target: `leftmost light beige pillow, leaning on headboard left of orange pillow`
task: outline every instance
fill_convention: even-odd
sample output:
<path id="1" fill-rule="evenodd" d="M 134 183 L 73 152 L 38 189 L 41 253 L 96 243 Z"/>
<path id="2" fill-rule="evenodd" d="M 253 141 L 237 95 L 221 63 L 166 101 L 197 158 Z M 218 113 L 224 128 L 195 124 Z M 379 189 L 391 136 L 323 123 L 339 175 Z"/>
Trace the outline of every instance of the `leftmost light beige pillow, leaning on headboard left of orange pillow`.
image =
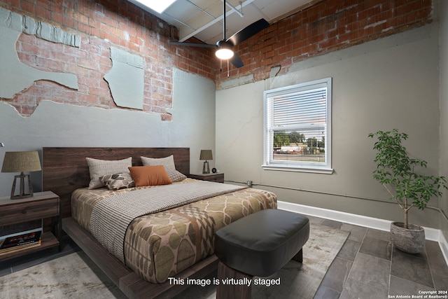
<path id="1" fill-rule="evenodd" d="M 94 158 L 85 158 L 85 160 L 87 160 L 90 172 L 89 189 L 104 187 L 104 183 L 99 180 L 100 176 L 128 172 L 127 167 L 132 166 L 132 157 L 123 160 L 99 160 Z"/>

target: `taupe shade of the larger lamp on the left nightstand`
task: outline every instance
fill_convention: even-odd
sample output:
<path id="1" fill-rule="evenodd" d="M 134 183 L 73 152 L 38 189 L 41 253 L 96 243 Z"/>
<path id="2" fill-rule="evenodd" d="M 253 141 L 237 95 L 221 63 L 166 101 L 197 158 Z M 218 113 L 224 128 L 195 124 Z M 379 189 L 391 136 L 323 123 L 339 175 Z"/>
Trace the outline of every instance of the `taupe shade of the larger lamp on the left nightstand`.
<path id="1" fill-rule="evenodd" d="M 7 151 L 1 172 L 38 172 L 42 170 L 36 151 Z"/>

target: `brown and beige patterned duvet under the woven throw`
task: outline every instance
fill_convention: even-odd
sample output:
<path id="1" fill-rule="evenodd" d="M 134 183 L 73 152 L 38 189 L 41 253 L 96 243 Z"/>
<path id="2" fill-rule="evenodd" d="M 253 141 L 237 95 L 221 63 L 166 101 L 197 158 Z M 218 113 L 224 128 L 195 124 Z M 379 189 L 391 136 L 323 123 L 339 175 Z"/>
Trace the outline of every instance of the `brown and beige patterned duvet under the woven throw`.
<path id="1" fill-rule="evenodd" d="M 185 179 L 179 183 L 190 183 Z M 81 188 L 72 194 L 72 216 L 90 230 L 94 204 L 123 190 Z M 261 209 L 276 209 L 276 195 L 245 188 L 174 209 L 135 218 L 125 235 L 125 263 L 141 277 L 162 283 L 214 253 L 214 233 L 237 219 Z"/>

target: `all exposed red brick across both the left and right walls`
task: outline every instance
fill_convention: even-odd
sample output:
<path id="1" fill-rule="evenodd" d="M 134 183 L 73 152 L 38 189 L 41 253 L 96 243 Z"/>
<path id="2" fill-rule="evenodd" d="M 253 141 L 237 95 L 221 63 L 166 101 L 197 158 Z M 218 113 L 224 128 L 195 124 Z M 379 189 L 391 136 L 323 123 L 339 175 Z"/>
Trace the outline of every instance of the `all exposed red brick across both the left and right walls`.
<path id="1" fill-rule="evenodd" d="M 144 57 L 144 111 L 172 120 L 173 67 L 216 81 L 228 80 L 226 64 L 209 48 L 170 46 L 175 27 L 125 0 L 8 0 L 0 6 L 36 20 L 58 25 L 81 37 L 80 48 L 51 43 L 21 34 L 19 59 L 44 71 L 76 74 L 79 90 L 50 81 L 37 81 L 13 99 L 0 99 L 29 116 L 39 102 L 54 102 L 104 109 L 116 108 L 104 75 L 111 69 L 110 47 Z M 315 6 L 279 20 L 235 47 L 244 67 L 230 66 L 229 78 L 248 74 L 268 78 L 272 67 L 285 74 L 307 57 L 378 39 L 432 21 L 431 0 L 323 0 Z"/>

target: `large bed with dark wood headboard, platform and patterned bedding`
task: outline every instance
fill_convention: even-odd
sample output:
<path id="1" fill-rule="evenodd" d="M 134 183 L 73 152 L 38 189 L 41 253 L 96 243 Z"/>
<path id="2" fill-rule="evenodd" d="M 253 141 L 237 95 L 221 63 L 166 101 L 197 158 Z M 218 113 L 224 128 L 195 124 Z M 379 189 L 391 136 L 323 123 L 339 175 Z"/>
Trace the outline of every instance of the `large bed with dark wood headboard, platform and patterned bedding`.
<path id="1" fill-rule="evenodd" d="M 218 264 L 213 252 L 216 230 L 260 209 L 276 208 L 276 197 L 268 191 L 241 186 L 235 186 L 234 190 L 228 184 L 184 179 L 185 176 L 179 181 L 173 179 L 173 183 L 156 187 L 130 186 L 119 190 L 109 190 L 107 187 L 88 188 L 92 183 L 89 169 L 89 166 L 92 169 L 92 165 L 87 163 L 86 158 L 111 161 L 129 159 L 132 167 L 136 167 L 134 170 L 141 170 L 143 167 L 140 166 L 144 165 L 144 158 L 141 157 L 151 157 L 153 164 L 158 164 L 158 159 L 169 156 L 174 160 L 176 172 L 188 176 L 189 148 L 43 148 L 43 190 L 52 190 L 60 197 L 62 229 L 129 298 L 171 298 L 183 291 L 188 286 L 173 284 L 168 278 L 200 278 L 215 270 Z M 171 179 L 171 173 L 169 175 Z M 170 194 L 173 190 L 178 190 L 176 192 L 182 197 L 184 190 L 194 189 L 189 192 L 197 193 L 199 191 L 196 190 L 202 188 L 217 188 L 218 191 L 212 192 L 211 197 L 197 197 L 199 200 L 195 197 L 188 204 L 176 203 L 174 207 L 160 211 L 152 210 L 151 207 L 148 211 L 155 211 L 154 213 L 146 214 L 144 211 L 144 215 L 136 218 L 132 214 L 125 215 L 127 207 L 118 209 L 115 208 L 115 201 L 113 204 L 108 202 L 127 202 L 130 196 L 131 200 L 140 202 L 139 196 L 151 194 L 150 197 L 157 197 L 158 193 L 164 193 L 165 190 Z M 101 206 L 114 208 L 112 211 L 98 212 Z M 138 210 L 140 213 L 141 208 Z M 120 217 L 111 216 L 113 213 L 118 213 Z M 121 218 L 122 213 L 133 219 L 123 229 L 125 246 L 118 246 L 123 251 L 123 258 L 120 250 L 118 253 L 113 250 L 113 242 L 117 242 L 106 236 L 120 235 L 122 232 L 118 230 L 113 234 L 104 234 L 102 232 L 109 231 L 110 228 L 105 230 L 101 226 L 104 225 L 102 223 L 107 224 L 109 218 Z M 103 217 L 106 219 L 101 220 Z M 116 226 L 120 225 L 113 225 Z M 179 233 L 180 231 L 183 233 Z M 170 237 L 164 239 L 162 235 Z M 143 239 L 152 243 L 143 244 Z M 168 250 L 168 244 L 175 246 Z"/>

